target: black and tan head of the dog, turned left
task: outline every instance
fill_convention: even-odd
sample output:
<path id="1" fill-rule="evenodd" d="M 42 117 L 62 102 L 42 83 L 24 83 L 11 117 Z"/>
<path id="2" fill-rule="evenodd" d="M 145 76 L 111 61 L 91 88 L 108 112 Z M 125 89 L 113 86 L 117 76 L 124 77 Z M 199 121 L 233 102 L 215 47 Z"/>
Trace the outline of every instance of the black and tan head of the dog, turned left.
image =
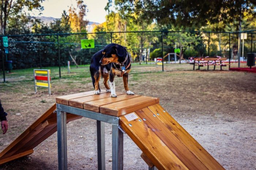
<path id="1" fill-rule="evenodd" d="M 126 53 L 126 47 L 115 43 L 109 44 L 104 47 L 102 51 L 103 57 L 99 63 L 102 65 L 106 65 L 111 62 L 121 63 L 125 60 Z"/>

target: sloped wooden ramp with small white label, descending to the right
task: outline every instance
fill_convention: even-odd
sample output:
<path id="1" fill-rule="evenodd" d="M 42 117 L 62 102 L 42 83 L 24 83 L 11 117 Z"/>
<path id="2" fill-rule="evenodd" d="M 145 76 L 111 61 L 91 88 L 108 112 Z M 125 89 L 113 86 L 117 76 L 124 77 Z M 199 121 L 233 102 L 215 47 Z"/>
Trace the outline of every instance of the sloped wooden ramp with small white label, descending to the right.
<path id="1" fill-rule="evenodd" d="M 120 126 L 159 170 L 224 169 L 159 104 L 119 117 Z M 151 165 L 152 165 L 151 164 Z"/>

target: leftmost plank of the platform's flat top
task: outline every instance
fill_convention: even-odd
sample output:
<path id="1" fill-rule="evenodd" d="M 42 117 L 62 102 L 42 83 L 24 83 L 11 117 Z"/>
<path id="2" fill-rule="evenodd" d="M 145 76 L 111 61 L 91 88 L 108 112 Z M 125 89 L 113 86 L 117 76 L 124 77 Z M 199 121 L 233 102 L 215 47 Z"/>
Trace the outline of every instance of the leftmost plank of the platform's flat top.
<path id="1" fill-rule="evenodd" d="M 106 92 L 101 92 L 101 94 L 102 93 L 106 93 Z M 89 92 L 83 92 L 83 93 L 69 94 L 69 95 L 66 95 L 66 96 L 56 97 L 56 103 L 63 104 L 63 105 L 69 105 L 69 100 L 72 100 L 74 98 L 92 96 L 92 95 L 94 95 L 94 90 L 89 91 Z"/>

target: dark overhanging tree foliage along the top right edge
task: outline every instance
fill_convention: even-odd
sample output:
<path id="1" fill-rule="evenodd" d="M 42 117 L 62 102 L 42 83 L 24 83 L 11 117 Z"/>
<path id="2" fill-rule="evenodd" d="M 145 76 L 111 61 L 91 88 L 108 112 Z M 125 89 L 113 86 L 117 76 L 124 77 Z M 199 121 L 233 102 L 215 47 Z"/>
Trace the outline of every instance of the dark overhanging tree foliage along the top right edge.
<path id="1" fill-rule="evenodd" d="M 196 28 L 208 23 L 241 21 L 245 13 L 256 16 L 253 0 L 115 0 L 115 5 L 130 13 L 142 13 L 144 20 L 154 19 L 161 25 Z"/>

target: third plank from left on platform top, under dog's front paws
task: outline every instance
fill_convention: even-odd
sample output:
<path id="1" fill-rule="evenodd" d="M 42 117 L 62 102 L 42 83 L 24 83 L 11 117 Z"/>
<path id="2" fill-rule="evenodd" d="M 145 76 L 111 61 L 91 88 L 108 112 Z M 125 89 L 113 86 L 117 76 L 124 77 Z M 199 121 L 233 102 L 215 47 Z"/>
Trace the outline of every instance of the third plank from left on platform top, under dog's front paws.
<path id="1" fill-rule="evenodd" d="M 85 102 L 83 104 L 83 108 L 86 109 L 86 110 L 89 110 L 89 111 L 99 113 L 99 108 L 103 105 L 115 103 L 115 102 L 118 102 L 118 101 L 128 100 L 130 98 L 135 98 L 135 97 L 139 97 L 139 96 L 140 95 L 137 95 L 137 94 L 135 94 L 135 95 L 122 94 L 122 95 L 119 95 L 117 97 L 103 98 L 103 99 L 99 99 L 99 100 Z"/>

